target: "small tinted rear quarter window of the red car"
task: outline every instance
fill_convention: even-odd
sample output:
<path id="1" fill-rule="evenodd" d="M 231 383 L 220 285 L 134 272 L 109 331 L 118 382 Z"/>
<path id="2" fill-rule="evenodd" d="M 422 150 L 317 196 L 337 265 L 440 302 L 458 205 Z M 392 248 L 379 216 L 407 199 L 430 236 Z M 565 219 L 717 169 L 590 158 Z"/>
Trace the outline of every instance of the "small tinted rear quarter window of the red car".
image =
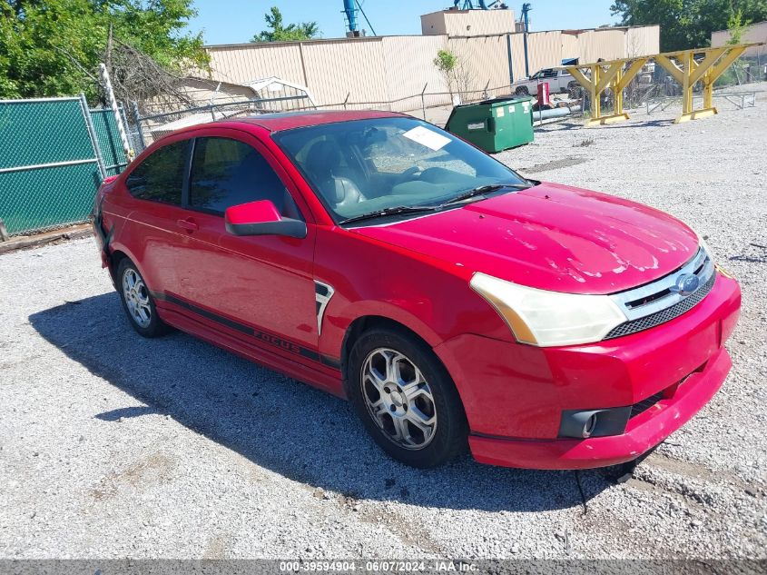
<path id="1" fill-rule="evenodd" d="M 128 176 L 128 191 L 140 200 L 181 205 L 183 168 L 189 141 L 162 146 L 139 164 Z"/>

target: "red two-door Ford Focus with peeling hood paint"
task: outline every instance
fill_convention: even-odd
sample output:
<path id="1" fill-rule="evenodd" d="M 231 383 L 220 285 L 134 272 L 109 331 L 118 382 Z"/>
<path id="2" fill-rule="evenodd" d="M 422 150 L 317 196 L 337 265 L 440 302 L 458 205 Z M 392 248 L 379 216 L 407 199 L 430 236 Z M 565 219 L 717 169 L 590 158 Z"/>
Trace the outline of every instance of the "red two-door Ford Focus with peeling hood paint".
<path id="1" fill-rule="evenodd" d="M 131 325 L 353 403 L 399 461 L 631 461 L 722 385 L 738 283 L 666 213 L 520 176 L 400 114 L 184 129 L 103 183 Z"/>

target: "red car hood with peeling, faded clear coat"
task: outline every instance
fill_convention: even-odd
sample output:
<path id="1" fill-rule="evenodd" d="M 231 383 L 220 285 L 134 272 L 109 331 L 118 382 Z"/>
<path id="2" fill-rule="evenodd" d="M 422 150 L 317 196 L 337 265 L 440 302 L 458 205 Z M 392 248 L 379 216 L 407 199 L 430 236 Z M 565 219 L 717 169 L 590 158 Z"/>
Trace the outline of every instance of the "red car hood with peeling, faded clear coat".
<path id="1" fill-rule="evenodd" d="M 652 282 L 698 249 L 693 230 L 667 213 L 556 183 L 350 231 L 468 273 L 569 293 L 620 292 Z"/>

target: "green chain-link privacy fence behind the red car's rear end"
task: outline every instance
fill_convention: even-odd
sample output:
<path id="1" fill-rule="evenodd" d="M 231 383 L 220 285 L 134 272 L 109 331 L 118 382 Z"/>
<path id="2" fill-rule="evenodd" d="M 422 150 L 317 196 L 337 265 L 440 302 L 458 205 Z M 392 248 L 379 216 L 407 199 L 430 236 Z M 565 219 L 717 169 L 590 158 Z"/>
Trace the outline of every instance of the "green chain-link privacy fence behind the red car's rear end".
<path id="1" fill-rule="evenodd" d="M 0 220 L 9 234 L 84 222 L 127 164 L 112 110 L 84 97 L 0 100 Z"/>

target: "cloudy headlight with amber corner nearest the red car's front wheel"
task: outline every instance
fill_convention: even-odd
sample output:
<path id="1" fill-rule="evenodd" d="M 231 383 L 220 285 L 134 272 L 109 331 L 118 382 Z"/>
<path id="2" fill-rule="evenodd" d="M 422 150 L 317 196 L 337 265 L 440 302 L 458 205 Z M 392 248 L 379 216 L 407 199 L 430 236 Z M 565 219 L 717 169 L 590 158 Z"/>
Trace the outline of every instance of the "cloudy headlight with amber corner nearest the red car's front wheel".
<path id="1" fill-rule="evenodd" d="M 599 342 L 626 317 L 606 295 L 546 292 L 475 273 L 472 289 L 506 321 L 518 342 L 547 347 Z"/>

